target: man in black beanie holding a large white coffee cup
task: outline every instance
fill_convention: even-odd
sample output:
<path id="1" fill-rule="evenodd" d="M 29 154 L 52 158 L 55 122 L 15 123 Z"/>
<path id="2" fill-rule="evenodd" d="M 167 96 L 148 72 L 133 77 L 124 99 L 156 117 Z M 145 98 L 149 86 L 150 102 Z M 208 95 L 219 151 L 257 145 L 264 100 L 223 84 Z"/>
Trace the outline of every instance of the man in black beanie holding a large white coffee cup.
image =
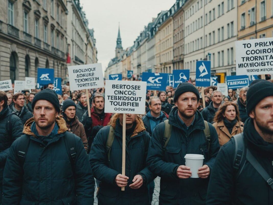
<path id="1" fill-rule="evenodd" d="M 215 128 L 197 110 L 199 98 L 191 83 L 179 84 L 169 120 L 161 122 L 152 134 L 147 164 L 161 177 L 159 205 L 206 202 L 208 176 L 220 145 Z M 192 167 L 185 165 L 184 157 L 190 158 L 187 161 Z M 196 168 L 200 160 L 203 166 Z"/>

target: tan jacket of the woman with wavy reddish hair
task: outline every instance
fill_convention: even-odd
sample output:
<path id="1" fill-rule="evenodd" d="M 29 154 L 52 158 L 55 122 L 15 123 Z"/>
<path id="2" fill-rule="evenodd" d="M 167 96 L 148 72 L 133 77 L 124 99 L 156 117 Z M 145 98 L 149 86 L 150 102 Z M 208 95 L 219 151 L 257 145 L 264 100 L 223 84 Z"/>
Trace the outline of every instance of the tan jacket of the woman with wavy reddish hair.
<path id="1" fill-rule="evenodd" d="M 213 127 L 215 127 L 216 132 L 218 134 L 220 146 L 227 143 L 231 139 L 232 136 L 243 132 L 243 129 L 244 129 L 244 127 L 243 127 L 244 123 L 241 121 L 237 122 L 234 125 L 231 134 L 229 133 L 229 130 L 225 126 L 224 121 L 215 122 L 212 125 L 213 125 Z"/>

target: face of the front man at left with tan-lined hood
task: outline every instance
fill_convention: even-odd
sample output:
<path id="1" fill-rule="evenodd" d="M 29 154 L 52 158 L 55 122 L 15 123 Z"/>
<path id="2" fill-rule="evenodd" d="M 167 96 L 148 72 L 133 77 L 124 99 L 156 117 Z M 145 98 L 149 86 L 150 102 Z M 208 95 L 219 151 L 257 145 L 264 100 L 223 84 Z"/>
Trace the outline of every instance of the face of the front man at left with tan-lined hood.
<path id="1" fill-rule="evenodd" d="M 58 117 L 58 112 L 47 100 L 38 100 L 33 109 L 33 116 L 36 125 L 41 129 L 48 129 Z"/>

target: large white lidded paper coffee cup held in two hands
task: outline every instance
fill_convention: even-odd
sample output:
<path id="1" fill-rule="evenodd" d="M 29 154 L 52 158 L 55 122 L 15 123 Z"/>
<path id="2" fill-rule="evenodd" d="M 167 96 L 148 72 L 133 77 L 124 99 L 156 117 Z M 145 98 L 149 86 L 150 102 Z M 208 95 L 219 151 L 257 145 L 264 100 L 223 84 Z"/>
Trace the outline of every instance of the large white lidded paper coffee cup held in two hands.
<path id="1" fill-rule="evenodd" d="M 198 177 L 198 169 L 203 166 L 204 155 L 202 154 L 186 154 L 185 155 L 185 165 L 191 168 L 191 178 Z"/>

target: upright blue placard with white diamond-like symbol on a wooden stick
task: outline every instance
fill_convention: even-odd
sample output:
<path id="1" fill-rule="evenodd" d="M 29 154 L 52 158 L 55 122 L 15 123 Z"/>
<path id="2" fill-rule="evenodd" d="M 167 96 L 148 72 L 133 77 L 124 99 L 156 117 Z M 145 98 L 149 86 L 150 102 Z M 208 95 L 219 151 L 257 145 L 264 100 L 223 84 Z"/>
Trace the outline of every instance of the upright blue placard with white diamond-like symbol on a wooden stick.
<path id="1" fill-rule="evenodd" d="M 210 86 L 210 61 L 196 62 L 195 85 L 201 87 Z"/>

